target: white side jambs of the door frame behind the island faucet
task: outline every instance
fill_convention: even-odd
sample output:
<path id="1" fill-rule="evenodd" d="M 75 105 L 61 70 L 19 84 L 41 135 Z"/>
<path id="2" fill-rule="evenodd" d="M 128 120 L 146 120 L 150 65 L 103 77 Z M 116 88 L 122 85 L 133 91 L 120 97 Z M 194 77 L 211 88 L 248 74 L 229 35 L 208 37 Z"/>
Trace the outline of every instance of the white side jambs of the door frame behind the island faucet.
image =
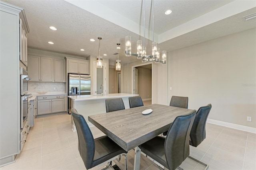
<path id="1" fill-rule="evenodd" d="M 107 94 L 107 64 L 102 63 L 103 66 L 103 86 L 104 94 Z M 97 94 L 97 62 L 93 62 L 93 94 Z"/>

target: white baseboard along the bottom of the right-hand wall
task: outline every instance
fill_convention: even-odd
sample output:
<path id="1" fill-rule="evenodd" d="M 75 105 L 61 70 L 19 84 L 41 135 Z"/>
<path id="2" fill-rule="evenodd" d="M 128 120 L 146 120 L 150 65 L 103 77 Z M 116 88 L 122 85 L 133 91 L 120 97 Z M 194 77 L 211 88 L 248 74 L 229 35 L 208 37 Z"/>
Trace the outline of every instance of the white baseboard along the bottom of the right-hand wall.
<path id="1" fill-rule="evenodd" d="M 207 123 L 216 124 L 216 125 L 220 125 L 220 126 L 225 126 L 225 127 L 228 127 L 228 128 L 242 130 L 242 131 L 246 131 L 246 132 L 256 134 L 256 128 L 252 128 L 252 127 L 249 127 L 249 126 L 243 126 L 243 125 L 239 125 L 239 124 L 222 122 L 222 121 L 213 120 L 213 119 L 207 119 Z"/>

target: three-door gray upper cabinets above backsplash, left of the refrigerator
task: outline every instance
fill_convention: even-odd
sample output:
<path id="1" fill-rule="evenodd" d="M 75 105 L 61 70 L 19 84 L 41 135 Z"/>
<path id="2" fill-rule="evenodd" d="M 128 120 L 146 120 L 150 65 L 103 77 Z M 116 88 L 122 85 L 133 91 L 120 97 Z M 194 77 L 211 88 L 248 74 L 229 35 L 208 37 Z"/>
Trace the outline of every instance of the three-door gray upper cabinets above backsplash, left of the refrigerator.
<path id="1" fill-rule="evenodd" d="M 65 82 L 64 58 L 28 54 L 30 82 Z"/>

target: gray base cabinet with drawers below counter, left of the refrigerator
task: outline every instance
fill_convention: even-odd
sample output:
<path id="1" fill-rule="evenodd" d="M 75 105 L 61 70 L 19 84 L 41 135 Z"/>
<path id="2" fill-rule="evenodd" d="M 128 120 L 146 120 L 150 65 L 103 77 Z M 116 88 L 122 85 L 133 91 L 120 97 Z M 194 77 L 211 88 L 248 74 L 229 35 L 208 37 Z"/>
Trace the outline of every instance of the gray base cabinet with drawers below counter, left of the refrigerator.
<path id="1" fill-rule="evenodd" d="M 66 111 L 65 95 L 38 96 L 37 115 Z"/>

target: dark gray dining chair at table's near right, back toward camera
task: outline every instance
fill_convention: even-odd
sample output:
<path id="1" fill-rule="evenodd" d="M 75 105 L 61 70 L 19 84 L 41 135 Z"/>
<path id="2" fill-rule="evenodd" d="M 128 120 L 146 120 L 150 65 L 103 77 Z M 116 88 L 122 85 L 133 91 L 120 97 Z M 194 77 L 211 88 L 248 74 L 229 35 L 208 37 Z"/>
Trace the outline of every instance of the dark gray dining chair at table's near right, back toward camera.
<path id="1" fill-rule="evenodd" d="M 156 136 L 139 146 L 141 151 L 169 170 L 181 169 L 180 164 L 189 155 L 189 134 L 195 116 L 196 110 L 176 117 L 166 138 Z"/>

